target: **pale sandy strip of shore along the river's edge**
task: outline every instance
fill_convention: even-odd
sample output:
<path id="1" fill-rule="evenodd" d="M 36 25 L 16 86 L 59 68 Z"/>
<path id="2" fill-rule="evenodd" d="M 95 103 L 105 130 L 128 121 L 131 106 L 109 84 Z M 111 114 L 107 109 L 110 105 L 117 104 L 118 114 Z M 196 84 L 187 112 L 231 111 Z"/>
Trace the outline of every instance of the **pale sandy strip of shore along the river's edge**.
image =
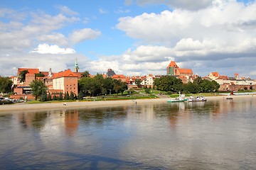
<path id="1" fill-rule="evenodd" d="M 228 96 L 206 96 L 208 101 L 221 100 Z M 248 98 L 253 95 L 232 96 L 235 98 Z M 11 105 L 0 106 L 0 114 L 9 111 L 43 111 L 56 109 L 72 109 L 72 108 L 99 108 L 109 106 L 124 106 L 124 105 L 140 105 L 146 103 L 167 103 L 170 98 L 151 98 L 151 99 L 135 99 L 135 100 L 120 100 L 120 101 L 73 101 L 59 103 L 16 103 Z"/>

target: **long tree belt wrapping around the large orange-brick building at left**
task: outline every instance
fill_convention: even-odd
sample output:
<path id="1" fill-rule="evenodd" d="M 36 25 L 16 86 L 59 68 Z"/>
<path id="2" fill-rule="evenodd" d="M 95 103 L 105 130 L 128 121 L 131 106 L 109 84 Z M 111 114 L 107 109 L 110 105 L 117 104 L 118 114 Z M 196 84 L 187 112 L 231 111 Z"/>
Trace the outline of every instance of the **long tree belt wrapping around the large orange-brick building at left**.
<path id="1" fill-rule="evenodd" d="M 47 91 L 47 86 L 43 81 L 35 79 L 31 82 L 31 91 L 35 99 L 40 101 L 62 101 L 64 100 L 82 100 L 84 96 L 100 96 L 108 94 L 123 94 L 127 90 L 127 83 L 121 80 L 112 79 L 110 77 L 104 78 L 102 74 L 97 74 L 95 77 L 90 77 L 89 74 L 83 74 L 82 78 L 78 80 L 78 96 L 73 92 L 70 94 L 58 94 L 53 97 Z"/>

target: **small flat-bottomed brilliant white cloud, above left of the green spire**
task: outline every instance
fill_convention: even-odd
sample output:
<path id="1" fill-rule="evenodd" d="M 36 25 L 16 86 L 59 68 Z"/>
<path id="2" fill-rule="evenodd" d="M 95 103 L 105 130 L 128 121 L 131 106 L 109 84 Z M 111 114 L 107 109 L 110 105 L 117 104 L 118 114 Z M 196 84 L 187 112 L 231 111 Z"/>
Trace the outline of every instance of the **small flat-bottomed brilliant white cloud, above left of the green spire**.
<path id="1" fill-rule="evenodd" d="M 40 54 L 73 54 L 75 53 L 75 50 L 72 48 L 61 48 L 58 45 L 48 45 L 48 44 L 41 44 L 38 45 L 38 47 L 31 51 L 31 52 L 37 52 Z"/>

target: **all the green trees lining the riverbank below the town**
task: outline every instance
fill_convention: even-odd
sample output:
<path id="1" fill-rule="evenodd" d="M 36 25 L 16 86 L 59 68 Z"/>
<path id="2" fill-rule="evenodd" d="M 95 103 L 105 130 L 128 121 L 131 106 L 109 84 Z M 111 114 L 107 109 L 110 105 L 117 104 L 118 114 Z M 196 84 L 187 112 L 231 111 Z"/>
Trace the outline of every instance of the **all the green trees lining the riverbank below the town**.
<path id="1" fill-rule="evenodd" d="M 25 79 L 26 70 L 19 75 L 20 81 Z M 135 84 L 140 88 L 141 80 L 136 79 Z M 0 77 L 0 91 L 3 93 L 11 92 L 12 81 L 9 77 Z M 122 82 L 120 79 L 112 79 L 110 77 L 104 78 L 102 74 L 97 74 L 95 77 L 90 77 L 89 72 L 82 73 L 81 79 L 78 80 L 78 96 L 73 93 L 56 94 L 51 96 L 47 91 L 46 85 L 41 80 L 33 80 L 30 84 L 33 91 L 33 96 L 36 100 L 40 98 L 41 101 L 51 100 L 82 100 L 84 96 L 101 96 L 109 94 L 123 94 L 127 90 L 127 82 Z M 150 87 L 151 88 L 151 87 Z M 181 79 L 172 76 L 164 76 L 154 79 L 153 89 L 160 91 L 167 91 L 171 93 L 178 93 L 181 91 L 185 94 L 196 94 L 201 92 L 215 92 L 218 91 L 220 85 L 216 81 L 209 81 L 197 77 L 193 83 L 183 84 Z"/>

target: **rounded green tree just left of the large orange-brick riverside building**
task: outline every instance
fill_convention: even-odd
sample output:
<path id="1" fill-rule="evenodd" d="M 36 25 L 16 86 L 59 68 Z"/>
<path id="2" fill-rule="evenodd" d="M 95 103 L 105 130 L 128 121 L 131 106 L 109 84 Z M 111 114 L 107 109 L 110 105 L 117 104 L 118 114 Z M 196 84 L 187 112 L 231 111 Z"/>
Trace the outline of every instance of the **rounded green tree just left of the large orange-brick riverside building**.
<path id="1" fill-rule="evenodd" d="M 33 80 L 31 82 L 31 84 L 29 84 L 29 86 L 31 86 L 31 89 L 33 91 L 33 96 L 35 96 L 35 99 L 37 100 L 38 96 L 41 96 L 43 93 L 46 94 L 46 85 L 43 84 L 43 81 L 41 80 Z"/>

